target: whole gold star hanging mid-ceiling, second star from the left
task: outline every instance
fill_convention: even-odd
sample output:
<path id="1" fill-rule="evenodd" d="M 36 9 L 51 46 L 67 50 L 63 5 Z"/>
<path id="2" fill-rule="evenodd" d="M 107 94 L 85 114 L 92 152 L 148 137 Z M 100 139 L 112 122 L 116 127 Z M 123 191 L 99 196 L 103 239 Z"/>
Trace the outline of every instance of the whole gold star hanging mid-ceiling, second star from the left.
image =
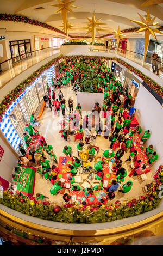
<path id="1" fill-rule="evenodd" d="M 96 31 L 99 34 L 99 31 L 104 30 L 103 28 L 100 27 L 100 25 L 103 25 L 103 24 L 106 24 L 106 23 L 99 22 L 101 19 L 97 19 L 96 20 L 95 11 L 93 13 L 92 19 L 90 19 L 90 18 L 86 18 L 86 19 L 89 20 L 89 21 L 84 22 L 84 23 L 88 23 L 87 24 L 87 28 L 86 28 L 86 29 L 88 29 L 88 31 L 87 31 L 86 34 L 89 34 L 91 32 L 91 35 L 92 35 L 92 45 L 94 45 Z"/>

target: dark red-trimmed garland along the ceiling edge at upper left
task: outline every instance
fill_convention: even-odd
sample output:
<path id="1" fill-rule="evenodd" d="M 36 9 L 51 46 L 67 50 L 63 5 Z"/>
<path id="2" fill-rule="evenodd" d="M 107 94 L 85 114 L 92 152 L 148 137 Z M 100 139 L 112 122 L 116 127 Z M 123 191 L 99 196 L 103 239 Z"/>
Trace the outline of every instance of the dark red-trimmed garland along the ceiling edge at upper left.
<path id="1" fill-rule="evenodd" d="M 47 23 L 44 23 L 44 22 L 29 19 L 28 17 L 22 16 L 22 15 L 2 14 L 1 13 L 0 14 L 0 21 L 17 21 L 17 22 L 22 22 L 22 23 L 28 23 L 30 25 L 36 25 L 36 26 L 39 26 L 39 27 L 47 28 L 47 29 L 50 29 L 52 31 L 61 33 L 62 35 L 65 35 L 65 33 L 63 31 L 60 31 L 60 29 L 58 29 L 58 28 L 55 28 L 55 27 L 53 27 L 51 25 L 48 25 Z M 70 36 L 70 35 L 68 35 L 68 36 Z"/>

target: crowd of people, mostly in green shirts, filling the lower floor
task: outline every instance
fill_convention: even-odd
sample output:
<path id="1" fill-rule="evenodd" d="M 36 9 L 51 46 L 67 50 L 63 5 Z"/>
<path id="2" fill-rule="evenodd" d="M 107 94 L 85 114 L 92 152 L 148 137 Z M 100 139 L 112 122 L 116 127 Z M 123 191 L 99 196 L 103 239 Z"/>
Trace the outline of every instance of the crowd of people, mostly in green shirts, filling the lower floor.
<path id="1" fill-rule="evenodd" d="M 61 92 L 61 87 L 67 88 L 71 86 L 74 93 L 83 90 L 83 78 L 89 77 L 89 74 L 86 74 L 83 70 L 83 63 L 89 67 L 89 70 L 96 70 L 96 76 L 99 81 L 96 87 L 99 93 L 104 93 L 104 102 L 102 109 L 99 107 L 99 103 L 95 102 L 95 107 L 91 111 L 92 113 L 83 117 L 80 103 L 77 104 L 74 110 L 73 99 L 71 99 L 71 97 L 68 99 L 67 106 L 69 109 L 66 109 L 67 112 L 74 114 L 75 117 L 77 114 L 79 115 L 78 122 L 76 121 L 77 119 L 75 119 L 73 123 L 74 126 L 78 126 L 80 132 L 85 130 L 85 144 L 84 142 L 79 142 L 77 144 L 76 153 L 73 152 L 72 147 L 68 144 L 64 146 L 62 151 L 63 155 L 67 157 L 70 156 L 73 159 L 72 164 L 68 164 L 68 168 L 70 168 L 68 172 L 72 174 L 72 176 L 68 178 L 71 183 L 71 188 L 69 192 L 64 193 L 63 195 L 63 200 L 68 207 L 74 205 L 74 203 L 78 203 L 72 202 L 73 191 L 84 191 L 85 200 L 80 202 L 83 207 L 92 204 L 89 198 L 92 197 L 95 191 L 103 191 L 106 194 L 105 197 L 98 201 L 99 205 L 106 204 L 109 200 L 114 199 L 116 197 L 115 191 L 128 193 L 133 186 L 133 182 L 129 180 L 124 183 L 124 178 L 127 176 L 127 170 L 123 167 L 124 163 L 134 162 L 134 176 L 142 174 L 147 167 L 143 161 L 136 160 L 137 151 L 131 151 L 134 134 L 140 135 L 142 132 L 141 126 L 139 125 L 133 129 L 130 127 L 135 113 L 128 116 L 127 119 L 124 119 L 123 117 L 124 111 L 129 113 L 130 109 L 133 107 L 131 94 L 128 93 L 127 88 L 123 88 L 120 81 L 117 81 L 108 66 L 106 66 L 106 63 L 102 62 L 101 59 L 93 59 L 91 57 L 81 58 L 78 61 L 73 58 L 68 59 L 67 64 L 62 65 L 59 77 L 57 79 L 52 78 L 52 86 L 48 86 L 47 84 L 47 95 L 43 97 L 46 102 L 46 107 L 50 108 L 54 115 L 59 115 L 61 110 L 62 117 L 63 119 L 65 118 L 66 100 Z M 58 96 L 56 95 L 57 89 L 59 89 Z M 102 117 L 100 116 L 101 111 L 103 111 Z M 97 122 L 95 114 L 98 115 Z M 102 118 L 105 120 L 104 127 L 101 125 Z M 22 172 L 22 166 L 34 166 L 37 168 L 37 172 L 42 178 L 44 176 L 46 180 L 48 179 L 51 181 L 53 185 L 53 194 L 57 194 L 65 185 L 58 180 L 58 156 L 54 154 L 52 145 L 48 145 L 43 137 L 36 148 L 30 144 L 32 136 L 39 135 L 39 131 L 32 126 L 32 123 L 35 120 L 34 114 L 32 114 L 32 117 L 30 118 L 31 123 L 27 124 L 24 129 L 24 147 L 21 143 L 19 144 L 21 156 L 18 159 L 15 174 L 12 175 L 12 177 L 13 180 L 17 182 L 18 177 Z M 95 130 L 96 134 L 95 132 L 92 132 L 92 129 Z M 92 162 L 94 159 L 93 156 L 95 156 L 95 147 L 90 144 L 90 138 L 92 136 L 96 138 L 99 132 L 102 131 L 104 132 L 104 139 L 108 140 L 108 149 L 104 150 L 101 160 L 93 164 L 92 168 L 93 173 L 95 173 L 95 179 L 99 181 L 99 185 L 92 188 L 84 188 L 83 190 L 79 185 L 73 185 L 74 176 L 77 174 L 78 168 L 82 167 L 83 164 L 82 159 L 80 158 L 80 153 L 84 150 L 88 150 L 88 159 Z M 66 129 L 63 129 L 62 134 L 67 141 Z M 151 131 L 149 130 L 146 130 L 141 136 L 142 150 L 150 136 Z M 116 153 L 114 152 L 115 149 L 118 149 Z M 153 145 L 146 147 L 145 152 L 148 157 L 149 165 L 158 159 L 158 154 L 154 151 Z M 124 153 L 129 153 L 129 157 L 125 161 L 122 161 L 121 158 Z M 73 156 L 74 154 L 77 154 L 78 157 Z M 116 178 L 111 180 L 112 183 L 109 188 L 103 188 L 104 170 L 112 157 L 115 158 L 112 173 L 115 174 Z M 51 160 L 53 161 L 52 167 L 50 166 Z M 43 194 L 40 194 L 40 196 L 37 195 L 37 199 L 39 200 L 43 200 L 44 198 L 45 196 L 43 196 Z"/>

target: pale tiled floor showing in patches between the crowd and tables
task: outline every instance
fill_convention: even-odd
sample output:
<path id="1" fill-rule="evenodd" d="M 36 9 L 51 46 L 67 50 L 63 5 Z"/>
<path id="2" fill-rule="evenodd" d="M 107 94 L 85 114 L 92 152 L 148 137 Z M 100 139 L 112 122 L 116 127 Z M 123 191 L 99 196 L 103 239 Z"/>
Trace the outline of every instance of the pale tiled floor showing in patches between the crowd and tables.
<path id="1" fill-rule="evenodd" d="M 64 99 L 68 101 L 68 98 L 71 97 L 74 101 L 74 108 L 77 106 L 77 96 L 75 93 L 72 92 L 72 87 L 68 87 L 67 89 L 63 88 L 61 89 L 62 93 L 64 94 Z M 56 96 L 58 96 L 59 90 L 57 90 Z M 59 156 L 65 156 L 62 153 L 62 150 L 65 145 L 70 145 L 73 150 L 72 156 L 78 156 L 77 155 L 77 144 L 79 141 L 76 142 L 66 142 L 64 138 L 61 138 L 61 134 L 59 133 L 59 120 L 61 118 L 56 118 L 52 117 L 52 112 L 50 109 L 45 109 L 43 112 L 42 118 L 40 120 L 40 133 L 45 137 L 47 144 L 51 144 L 54 147 L 54 153 L 57 155 L 57 159 L 59 159 Z M 95 142 L 95 145 L 99 146 L 99 155 L 103 154 L 103 151 L 106 149 L 109 149 L 110 142 L 108 139 L 103 138 L 102 136 L 98 136 Z M 115 150 L 115 153 L 118 149 Z M 129 157 L 129 152 L 125 153 L 124 156 L 122 157 L 122 161 L 125 161 Z M 129 163 L 129 162 L 128 162 Z M 91 162 L 91 166 L 95 164 L 95 160 Z M 128 170 L 128 166 L 126 163 L 123 163 L 122 166 L 126 168 L 128 174 L 130 171 Z M 85 174 L 85 177 L 88 176 L 88 174 Z M 151 182 L 151 174 L 147 173 L 147 179 L 143 181 L 141 184 L 137 180 L 137 178 L 129 178 L 127 175 L 126 178 L 124 179 L 124 183 L 127 181 L 133 181 L 133 187 L 131 188 L 130 192 L 127 194 L 122 194 L 121 192 L 115 192 L 116 197 L 114 200 L 111 201 L 111 203 L 114 203 L 116 200 L 128 200 L 130 198 L 139 198 L 143 194 L 142 187 L 145 184 L 149 184 Z M 122 185 L 122 184 L 121 184 Z M 36 183 L 35 183 L 35 191 L 34 191 L 34 196 L 36 193 L 42 193 L 45 196 L 47 196 L 49 199 L 49 202 L 54 202 L 56 204 L 62 204 L 65 203 L 64 200 L 62 199 L 62 195 L 58 194 L 57 196 L 53 196 L 50 194 L 49 190 L 51 189 L 52 184 L 49 180 L 45 180 L 45 178 L 41 179 L 40 175 L 36 173 Z M 66 190 L 65 192 L 68 192 Z M 108 204 L 108 203 L 107 203 Z"/>

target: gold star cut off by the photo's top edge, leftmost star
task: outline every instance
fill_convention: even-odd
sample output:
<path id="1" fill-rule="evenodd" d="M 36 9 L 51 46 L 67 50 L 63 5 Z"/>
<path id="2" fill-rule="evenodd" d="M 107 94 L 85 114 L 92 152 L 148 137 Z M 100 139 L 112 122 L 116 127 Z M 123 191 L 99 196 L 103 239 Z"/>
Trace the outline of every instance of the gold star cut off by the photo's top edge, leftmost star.
<path id="1" fill-rule="evenodd" d="M 75 2 L 75 0 L 74 1 L 57 0 L 57 1 L 58 1 L 58 4 L 49 4 L 49 5 L 54 6 L 54 7 L 59 7 L 58 10 L 55 11 L 55 13 L 59 13 L 59 11 L 61 12 L 63 23 L 64 23 L 64 33 L 65 33 L 66 32 L 66 22 L 67 22 L 67 13 L 68 13 L 68 11 L 70 11 L 70 13 L 73 14 L 73 11 L 71 10 L 70 7 L 73 7 L 73 8 L 79 8 L 79 7 L 72 5 L 72 3 Z"/>

